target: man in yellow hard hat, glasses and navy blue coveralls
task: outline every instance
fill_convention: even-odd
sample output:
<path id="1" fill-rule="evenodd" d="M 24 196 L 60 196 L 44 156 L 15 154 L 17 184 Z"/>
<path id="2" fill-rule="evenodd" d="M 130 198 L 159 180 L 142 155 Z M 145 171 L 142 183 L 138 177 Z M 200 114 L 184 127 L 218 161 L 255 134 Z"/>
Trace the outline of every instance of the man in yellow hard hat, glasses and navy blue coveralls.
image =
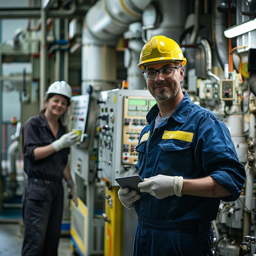
<path id="1" fill-rule="evenodd" d="M 139 68 L 157 104 L 146 116 L 136 151 L 141 192 L 119 189 L 138 215 L 133 256 L 211 256 L 220 200 L 237 200 L 245 182 L 229 130 L 182 92 L 184 58 L 171 38 L 153 36 Z"/>

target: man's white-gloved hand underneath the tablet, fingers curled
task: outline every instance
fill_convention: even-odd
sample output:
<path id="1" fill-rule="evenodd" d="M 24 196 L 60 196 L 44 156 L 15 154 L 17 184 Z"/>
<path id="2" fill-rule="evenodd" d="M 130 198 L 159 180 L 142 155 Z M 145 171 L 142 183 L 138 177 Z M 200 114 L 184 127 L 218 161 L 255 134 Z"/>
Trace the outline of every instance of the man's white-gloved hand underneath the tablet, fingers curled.
<path id="1" fill-rule="evenodd" d="M 134 209 L 135 202 L 139 200 L 140 195 L 136 190 L 130 191 L 129 188 L 119 189 L 117 192 L 119 200 L 127 209 Z"/>

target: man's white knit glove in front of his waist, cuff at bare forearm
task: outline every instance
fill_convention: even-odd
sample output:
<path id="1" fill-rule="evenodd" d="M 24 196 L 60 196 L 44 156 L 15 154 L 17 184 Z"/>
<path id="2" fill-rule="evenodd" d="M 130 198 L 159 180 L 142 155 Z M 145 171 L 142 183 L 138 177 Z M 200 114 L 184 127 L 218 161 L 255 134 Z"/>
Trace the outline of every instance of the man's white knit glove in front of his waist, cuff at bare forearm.
<path id="1" fill-rule="evenodd" d="M 162 174 L 145 178 L 144 182 L 139 182 L 138 184 L 141 192 L 150 193 L 157 199 L 163 199 L 169 195 L 182 196 L 182 186 L 182 176 L 166 176 Z"/>

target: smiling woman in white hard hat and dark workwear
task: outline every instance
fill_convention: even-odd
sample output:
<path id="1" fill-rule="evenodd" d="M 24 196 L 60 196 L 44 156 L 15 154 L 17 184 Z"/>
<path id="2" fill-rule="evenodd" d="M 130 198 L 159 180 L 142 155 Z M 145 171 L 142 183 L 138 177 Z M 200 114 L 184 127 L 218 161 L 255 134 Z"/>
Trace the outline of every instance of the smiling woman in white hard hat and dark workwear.
<path id="1" fill-rule="evenodd" d="M 61 122 L 70 105 L 72 89 L 65 81 L 49 86 L 45 108 L 22 128 L 22 150 L 27 180 L 22 197 L 25 226 L 22 256 L 56 256 L 63 213 L 63 177 L 69 198 L 78 205 L 76 187 L 70 175 L 70 146 L 79 138 L 66 133 Z"/>

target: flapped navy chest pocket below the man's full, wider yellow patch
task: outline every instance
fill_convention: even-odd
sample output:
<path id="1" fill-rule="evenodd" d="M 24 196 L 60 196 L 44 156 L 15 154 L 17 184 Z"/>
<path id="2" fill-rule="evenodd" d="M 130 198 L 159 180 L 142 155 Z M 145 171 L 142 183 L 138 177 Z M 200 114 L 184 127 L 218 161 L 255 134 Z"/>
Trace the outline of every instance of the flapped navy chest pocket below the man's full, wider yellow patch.
<path id="1" fill-rule="evenodd" d="M 191 146 L 186 141 L 166 139 L 158 144 L 157 173 L 164 175 L 185 175 L 189 164 Z"/>

